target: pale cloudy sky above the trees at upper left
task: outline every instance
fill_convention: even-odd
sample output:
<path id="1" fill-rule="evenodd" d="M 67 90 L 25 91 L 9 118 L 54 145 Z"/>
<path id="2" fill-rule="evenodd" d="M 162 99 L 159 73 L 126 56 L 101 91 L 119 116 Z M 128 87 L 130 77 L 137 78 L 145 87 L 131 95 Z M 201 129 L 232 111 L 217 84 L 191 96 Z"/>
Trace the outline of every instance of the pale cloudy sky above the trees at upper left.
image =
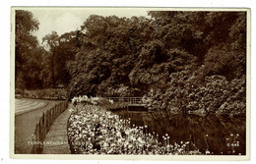
<path id="1" fill-rule="evenodd" d="M 24 9 L 25 10 L 25 9 Z M 90 15 L 117 16 L 131 18 L 133 16 L 149 17 L 144 9 L 120 9 L 120 8 L 29 8 L 33 18 L 39 22 L 39 29 L 32 34 L 37 36 L 39 43 L 41 38 L 55 30 L 59 35 L 72 30 L 79 29 Z"/>

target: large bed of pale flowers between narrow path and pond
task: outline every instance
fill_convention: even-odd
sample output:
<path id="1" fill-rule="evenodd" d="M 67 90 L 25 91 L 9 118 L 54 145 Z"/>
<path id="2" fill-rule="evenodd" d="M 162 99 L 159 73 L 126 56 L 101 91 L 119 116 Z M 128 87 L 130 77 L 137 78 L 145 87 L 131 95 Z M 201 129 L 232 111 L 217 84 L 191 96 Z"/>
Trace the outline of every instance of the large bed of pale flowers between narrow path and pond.
<path id="1" fill-rule="evenodd" d="M 201 154 L 189 150 L 189 142 L 163 143 L 158 135 L 147 133 L 147 127 L 131 127 L 130 120 L 96 105 L 78 104 L 68 120 L 68 140 L 75 154 Z"/>

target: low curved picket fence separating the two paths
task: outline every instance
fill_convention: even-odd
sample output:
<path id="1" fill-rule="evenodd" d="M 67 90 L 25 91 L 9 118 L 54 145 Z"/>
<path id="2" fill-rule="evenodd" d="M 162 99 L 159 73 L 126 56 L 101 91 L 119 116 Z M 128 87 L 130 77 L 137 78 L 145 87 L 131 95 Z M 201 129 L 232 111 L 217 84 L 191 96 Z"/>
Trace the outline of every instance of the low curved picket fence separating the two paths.
<path id="1" fill-rule="evenodd" d="M 50 126 L 54 120 L 67 109 L 67 107 L 67 101 L 61 102 L 47 110 L 46 113 L 42 113 L 38 124 L 35 126 L 34 135 L 32 135 L 32 154 L 40 154 L 42 152 L 43 140 L 45 139 Z"/>

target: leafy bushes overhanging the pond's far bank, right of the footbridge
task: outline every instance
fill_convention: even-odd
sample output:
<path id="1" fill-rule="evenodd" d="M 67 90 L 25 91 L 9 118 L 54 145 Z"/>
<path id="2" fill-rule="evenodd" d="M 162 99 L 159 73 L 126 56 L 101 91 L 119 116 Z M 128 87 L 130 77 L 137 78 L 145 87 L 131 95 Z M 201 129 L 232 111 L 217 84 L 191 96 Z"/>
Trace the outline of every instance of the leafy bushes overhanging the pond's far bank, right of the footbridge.
<path id="1" fill-rule="evenodd" d="M 245 76 L 228 82 L 224 76 L 201 75 L 188 70 L 173 73 L 169 87 L 152 89 L 143 98 L 149 109 L 189 112 L 200 110 L 218 115 L 245 115 Z"/>

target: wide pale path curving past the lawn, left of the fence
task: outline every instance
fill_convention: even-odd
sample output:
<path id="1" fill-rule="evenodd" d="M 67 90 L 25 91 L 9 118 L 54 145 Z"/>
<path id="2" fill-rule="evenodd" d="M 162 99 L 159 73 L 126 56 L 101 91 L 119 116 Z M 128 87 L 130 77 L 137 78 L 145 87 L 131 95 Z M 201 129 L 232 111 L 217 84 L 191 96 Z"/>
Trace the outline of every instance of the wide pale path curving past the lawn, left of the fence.
<path id="1" fill-rule="evenodd" d="M 39 99 L 29 99 L 26 100 L 44 102 L 47 103 L 46 106 L 39 109 L 34 109 L 30 112 L 20 114 L 15 116 L 15 153 L 16 154 L 30 154 L 32 150 L 32 145 L 29 141 L 32 141 L 32 135 L 35 130 L 35 125 L 38 123 L 39 118 L 43 112 L 52 108 L 54 105 L 63 101 L 55 100 L 39 100 Z"/>

